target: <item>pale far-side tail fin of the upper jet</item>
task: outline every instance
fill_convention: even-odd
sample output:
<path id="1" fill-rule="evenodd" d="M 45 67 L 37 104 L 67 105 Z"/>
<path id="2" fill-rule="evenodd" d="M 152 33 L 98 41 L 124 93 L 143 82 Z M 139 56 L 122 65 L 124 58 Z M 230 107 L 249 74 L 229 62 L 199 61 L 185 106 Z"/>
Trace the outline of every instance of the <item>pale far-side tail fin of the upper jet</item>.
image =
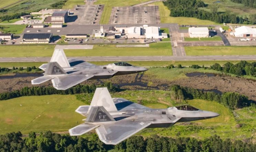
<path id="1" fill-rule="evenodd" d="M 61 67 L 70 67 L 63 49 L 55 49 L 50 62 L 57 62 Z"/>

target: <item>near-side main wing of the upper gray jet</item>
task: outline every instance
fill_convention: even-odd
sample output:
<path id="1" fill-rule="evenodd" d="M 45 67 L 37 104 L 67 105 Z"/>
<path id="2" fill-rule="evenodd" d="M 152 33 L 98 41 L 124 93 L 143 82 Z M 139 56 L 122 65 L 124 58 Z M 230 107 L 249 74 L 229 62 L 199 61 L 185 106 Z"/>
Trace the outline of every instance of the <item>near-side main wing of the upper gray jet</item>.
<path id="1" fill-rule="evenodd" d="M 94 77 L 94 74 L 82 75 L 79 72 L 72 73 L 52 79 L 52 84 L 57 90 L 66 90 L 92 77 Z"/>

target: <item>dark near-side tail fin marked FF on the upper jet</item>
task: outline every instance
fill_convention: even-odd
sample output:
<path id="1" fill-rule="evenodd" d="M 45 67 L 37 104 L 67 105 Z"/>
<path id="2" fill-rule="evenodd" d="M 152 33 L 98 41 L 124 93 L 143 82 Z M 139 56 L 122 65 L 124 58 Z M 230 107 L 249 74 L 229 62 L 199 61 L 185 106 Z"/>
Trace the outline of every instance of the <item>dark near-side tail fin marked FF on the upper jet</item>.
<path id="1" fill-rule="evenodd" d="M 57 74 L 67 74 L 67 72 L 57 62 L 48 62 L 44 74 L 57 75 Z"/>

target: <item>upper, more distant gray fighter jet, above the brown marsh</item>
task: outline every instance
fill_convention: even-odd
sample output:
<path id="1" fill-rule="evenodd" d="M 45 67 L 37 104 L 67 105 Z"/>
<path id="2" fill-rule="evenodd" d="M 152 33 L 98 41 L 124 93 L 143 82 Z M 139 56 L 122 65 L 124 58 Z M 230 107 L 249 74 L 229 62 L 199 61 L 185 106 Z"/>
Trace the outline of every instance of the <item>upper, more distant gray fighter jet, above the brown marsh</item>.
<path id="1" fill-rule="evenodd" d="M 66 90 L 85 80 L 109 79 L 115 75 L 124 75 L 147 71 L 147 68 L 132 66 L 127 62 L 117 62 L 105 66 L 96 66 L 76 58 L 67 59 L 63 49 L 55 49 L 51 61 L 39 67 L 44 76 L 31 80 L 32 84 L 41 84 L 52 80 L 57 90 Z"/>

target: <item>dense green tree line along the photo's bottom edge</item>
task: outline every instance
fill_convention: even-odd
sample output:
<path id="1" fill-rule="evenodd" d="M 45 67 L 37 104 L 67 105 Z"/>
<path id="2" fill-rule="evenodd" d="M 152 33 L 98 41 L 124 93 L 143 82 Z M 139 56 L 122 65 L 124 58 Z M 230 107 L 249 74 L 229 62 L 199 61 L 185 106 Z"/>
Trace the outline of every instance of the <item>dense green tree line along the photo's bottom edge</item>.
<path id="1" fill-rule="evenodd" d="M 60 135 L 51 131 L 39 133 L 30 132 L 22 137 L 21 132 L 11 132 L 0 135 L 0 151 L 5 152 L 255 152 L 256 144 L 241 140 L 231 141 L 212 136 L 203 140 L 190 137 L 143 138 L 132 136 L 117 145 L 106 145 L 95 133 L 86 136 Z"/>

